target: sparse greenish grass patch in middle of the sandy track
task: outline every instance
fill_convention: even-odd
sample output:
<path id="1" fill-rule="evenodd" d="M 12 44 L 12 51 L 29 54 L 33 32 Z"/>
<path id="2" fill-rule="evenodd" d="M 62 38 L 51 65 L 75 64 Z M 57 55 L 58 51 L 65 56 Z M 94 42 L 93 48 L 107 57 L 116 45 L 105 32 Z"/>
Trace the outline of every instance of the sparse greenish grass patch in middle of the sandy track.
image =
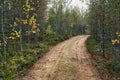
<path id="1" fill-rule="evenodd" d="M 51 74 L 51 80 L 74 80 L 76 72 L 77 69 L 73 64 L 60 60 Z"/>

